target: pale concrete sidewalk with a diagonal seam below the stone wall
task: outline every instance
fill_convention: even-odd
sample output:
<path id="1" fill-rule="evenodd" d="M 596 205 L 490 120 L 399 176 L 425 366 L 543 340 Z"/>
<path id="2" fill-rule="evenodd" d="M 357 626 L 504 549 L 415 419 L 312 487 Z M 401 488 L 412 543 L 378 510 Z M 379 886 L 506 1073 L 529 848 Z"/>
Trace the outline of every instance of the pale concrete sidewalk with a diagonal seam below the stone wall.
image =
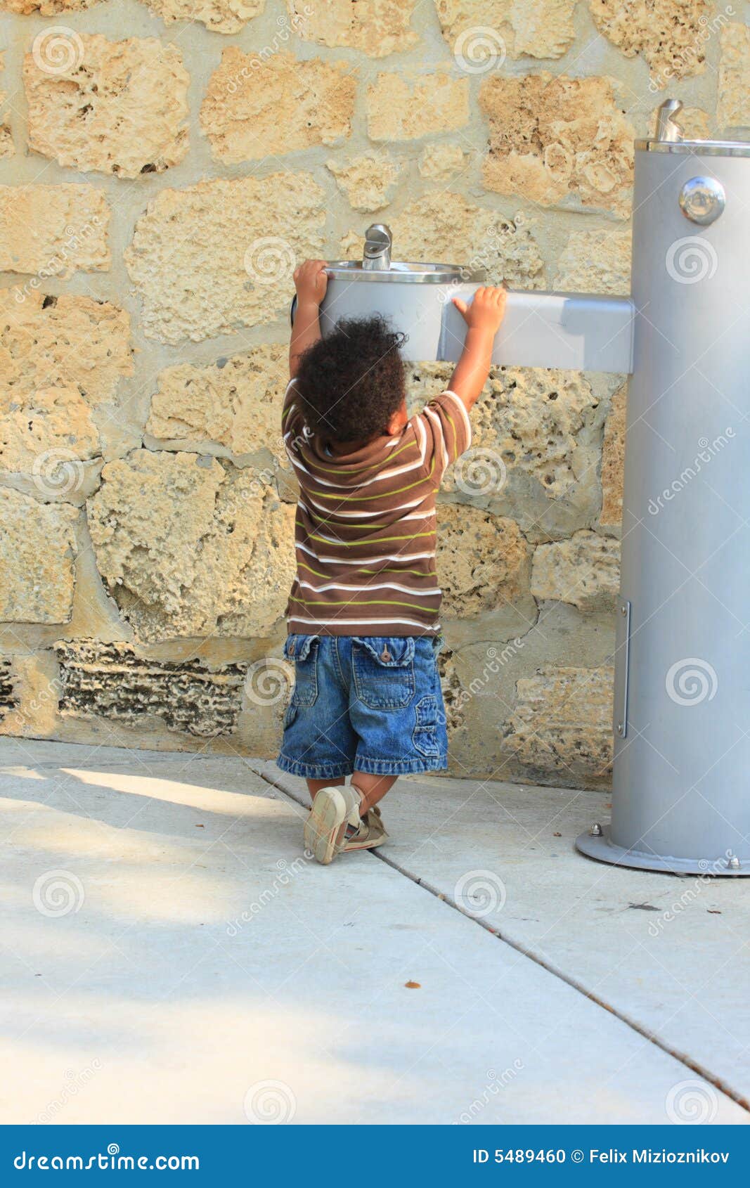
<path id="1" fill-rule="evenodd" d="M 447 779 L 323 868 L 300 798 L 0 740 L 0 1121 L 749 1120 L 745 883 L 578 857 L 601 794 Z"/>

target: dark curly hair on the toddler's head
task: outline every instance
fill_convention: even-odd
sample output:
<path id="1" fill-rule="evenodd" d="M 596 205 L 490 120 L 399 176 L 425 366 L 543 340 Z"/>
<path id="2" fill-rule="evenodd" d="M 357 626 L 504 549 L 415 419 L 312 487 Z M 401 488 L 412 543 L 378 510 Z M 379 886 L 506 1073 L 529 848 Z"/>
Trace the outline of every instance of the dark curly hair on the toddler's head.
<path id="1" fill-rule="evenodd" d="M 380 315 L 342 318 L 301 355 L 297 388 L 315 432 L 338 442 L 377 437 L 405 393 L 406 335 Z"/>

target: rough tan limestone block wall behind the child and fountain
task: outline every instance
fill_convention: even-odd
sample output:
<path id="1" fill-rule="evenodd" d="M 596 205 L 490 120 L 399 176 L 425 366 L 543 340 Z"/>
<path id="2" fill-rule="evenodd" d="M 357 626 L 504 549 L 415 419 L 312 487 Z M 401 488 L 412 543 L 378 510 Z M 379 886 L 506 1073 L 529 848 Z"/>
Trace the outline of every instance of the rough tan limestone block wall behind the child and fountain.
<path id="1" fill-rule="evenodd" d="M 296 260 L 628 291 L 632 139 L 743 0 L 0 0 L 0 732 L 271 754 Z M 410 399 L 447 374 L 412 368 Z M 453 771 L 606 786 L 624 379 L 498 368 L 441 494 Z"/>

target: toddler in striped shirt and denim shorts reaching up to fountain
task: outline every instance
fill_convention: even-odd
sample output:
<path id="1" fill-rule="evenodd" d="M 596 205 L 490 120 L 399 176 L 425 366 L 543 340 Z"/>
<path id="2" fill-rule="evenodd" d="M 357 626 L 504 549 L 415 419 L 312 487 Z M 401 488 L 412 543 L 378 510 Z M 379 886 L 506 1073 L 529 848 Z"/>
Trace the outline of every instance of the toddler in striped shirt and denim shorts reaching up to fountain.
<path id="1" fill-rule="evenodd" d="M 385 841 L 377 805 L 398 776 L 447 767 L 435 495 L 471 443 L 468 410 L 506 297 L 479 289 L 469 305 L 454 298 L 464 353 L 449 388 L 409 417 L 404 335 L 376 316 L 345 318 L 322 339 L 327 283 L 323 260 L 295 271 L 283 410 L 300 482 L 284 647 L 295 688 L 277 759 L 307 779 L 304 843 L 323 864 Z"/>

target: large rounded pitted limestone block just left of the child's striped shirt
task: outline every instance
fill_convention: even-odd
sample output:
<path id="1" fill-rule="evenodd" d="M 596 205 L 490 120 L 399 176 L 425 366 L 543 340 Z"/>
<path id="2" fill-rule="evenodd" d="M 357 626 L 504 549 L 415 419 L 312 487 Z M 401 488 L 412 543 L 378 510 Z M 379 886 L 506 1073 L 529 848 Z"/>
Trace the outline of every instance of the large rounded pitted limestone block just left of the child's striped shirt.
<path id="1" fill-rule="evenodd" d="M 294 576 L 294 516 L 252 468 L 134 450 L 88 503 L 99 571 L 143 640 L 263 636 Z"/>

